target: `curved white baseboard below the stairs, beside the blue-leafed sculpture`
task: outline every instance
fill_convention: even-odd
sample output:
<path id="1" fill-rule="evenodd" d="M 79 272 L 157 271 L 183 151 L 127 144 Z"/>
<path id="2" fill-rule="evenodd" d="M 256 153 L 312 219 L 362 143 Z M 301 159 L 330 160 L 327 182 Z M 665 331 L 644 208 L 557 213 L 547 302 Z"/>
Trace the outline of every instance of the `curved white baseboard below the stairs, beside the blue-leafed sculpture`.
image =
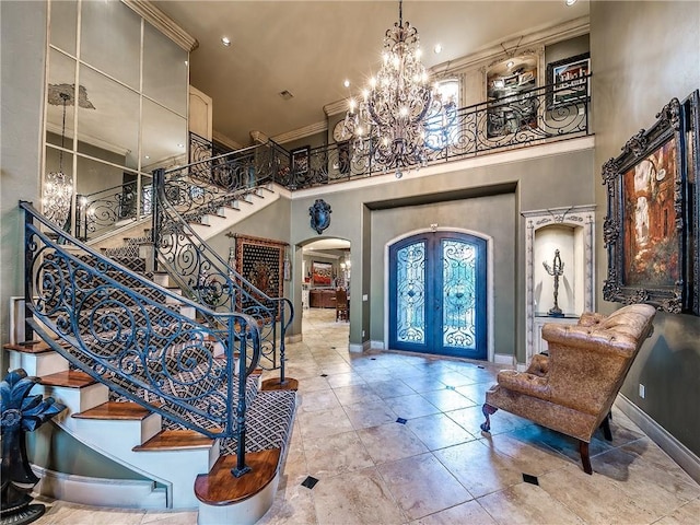
<path id="1" fill-rule="evenodd" d="M 167 509 L 165 488 L 139 479 L 104 479 L 77 476 L 32 465 L 39 482 L 34 491 L 55 500 L 121 509 Z"/>

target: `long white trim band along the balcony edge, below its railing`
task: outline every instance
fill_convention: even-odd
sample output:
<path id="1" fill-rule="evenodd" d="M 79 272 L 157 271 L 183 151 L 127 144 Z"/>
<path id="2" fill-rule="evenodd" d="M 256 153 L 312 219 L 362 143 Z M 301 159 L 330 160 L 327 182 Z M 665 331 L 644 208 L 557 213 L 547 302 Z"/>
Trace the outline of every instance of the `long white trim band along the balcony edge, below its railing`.
<path id="1" fill-rule="evenodd" d="M 522 162 L 532 159 L 572 153 L 574 151 L 586 151 L 592 150 L 593 148 L 595 148 L 594 136 L 558 140 L 556 142 L 549 142 L 541 145 L 529 145 L 527 148 L 518 148 L 516 150 L 509 150 L 500 153 L 481 154 L 478 156 L 464 159 L 462 161 L 429 165 L 427 167 L 421 167 L 420 170 L 405 172 L 404 178 L 401 180 L 407 180 L 409 178 L 429 177 L 431 175 L 442 175 L 464 170 L 474 170 L 483 166 Z M 342 184 L 328 184 L 318 186 L 316 188 L 298 189 L 293 194 L 290 194 L 290 197 L 292 200 L 296 200 L 316 197 L 318 195 L 328 196 L 331 194 L 353 191 L 358 189 L 368 191 L 368 188 L 371 188 L 373 186 L 381 186 L 383 184 L 399 183 L 397 183 L 396 176 L 393 173 L 387 173 L 386 175 L 375 174 L 371 177 L 358 177 L 354 180 L 348 180 L 347 183 Z"/>

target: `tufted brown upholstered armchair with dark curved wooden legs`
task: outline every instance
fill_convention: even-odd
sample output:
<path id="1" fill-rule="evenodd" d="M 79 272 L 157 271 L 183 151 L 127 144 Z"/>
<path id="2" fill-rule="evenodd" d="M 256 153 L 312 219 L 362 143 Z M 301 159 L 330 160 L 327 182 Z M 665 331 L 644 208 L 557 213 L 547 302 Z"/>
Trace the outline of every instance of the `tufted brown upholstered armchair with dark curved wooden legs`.
<path id="1" fill-rule="evenodd" d="M 578 325 L 546 324 L 548 355 L 534 355 L 525 372 L 499 372 L 486 393 L 481 430 L 491 430 L 489 416 L 499 408 L 529 419 L 579 440 L 583 469 L 592 474 L 588 443 L 599 427 L 612 439 L 610 407 L 653 331 L 655 313 L 649 304 L 632 304 L 609 316 L 585 313 Z"/>

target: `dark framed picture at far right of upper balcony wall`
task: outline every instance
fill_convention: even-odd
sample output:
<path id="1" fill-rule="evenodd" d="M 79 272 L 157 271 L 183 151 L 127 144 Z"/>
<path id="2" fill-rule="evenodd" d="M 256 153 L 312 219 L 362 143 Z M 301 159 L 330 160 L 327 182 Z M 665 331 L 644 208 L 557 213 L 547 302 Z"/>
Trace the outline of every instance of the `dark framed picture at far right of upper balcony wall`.
<path id="1" fill-rule="evenodd" d="M 580 103 L 586 100 L 591 82 L 590 54 L 576 55 L 547 65 L 547 107 Z"/>

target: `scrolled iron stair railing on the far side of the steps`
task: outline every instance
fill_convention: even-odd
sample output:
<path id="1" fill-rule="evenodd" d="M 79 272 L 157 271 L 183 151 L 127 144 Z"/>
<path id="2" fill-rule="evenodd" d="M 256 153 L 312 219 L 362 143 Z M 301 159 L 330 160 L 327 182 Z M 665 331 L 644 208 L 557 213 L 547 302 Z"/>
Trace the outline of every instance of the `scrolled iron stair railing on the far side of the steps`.
<path id="1" fill-rule="evenodd" d="M 280 369 L 284 383 L 284 337 L 294 310 L 285 298 L 270 298 L 238 273 L 190 226 L 205 212 L 215 212 L 226 199 L 241 198 L 250 189 L 236 190 L 240 178 L 228 174 L 245 173 L 252 160 L 265 158 L 267 144 L 246 154 L 235 152 L 207 159 L 178 170 L 154 172 L 153 207 L 154 265 L 164 267 L 192 300 L 215 312 L 241 312 L 256 319 L 260 329 L 260 365 Z M 259 151 L 258 151 L 259 150 Z M 237 154 L 236 154 L 237 153 Z M 262 165 L 275 159 L 269 153 Z M 238 165 L 241 163 L 242 165 Z M 268 172 L 269 173 L 269 172 Z M 222 174 L 226 174 L 225 176 Z M 267 176 L 260 177 L 267 180 Z M 206 180 L 206 186 L 196 183 Z M 225 183 L 223 190 L 218 183 Z M 215 319 L 207 317 L 208 323 Z"/>

